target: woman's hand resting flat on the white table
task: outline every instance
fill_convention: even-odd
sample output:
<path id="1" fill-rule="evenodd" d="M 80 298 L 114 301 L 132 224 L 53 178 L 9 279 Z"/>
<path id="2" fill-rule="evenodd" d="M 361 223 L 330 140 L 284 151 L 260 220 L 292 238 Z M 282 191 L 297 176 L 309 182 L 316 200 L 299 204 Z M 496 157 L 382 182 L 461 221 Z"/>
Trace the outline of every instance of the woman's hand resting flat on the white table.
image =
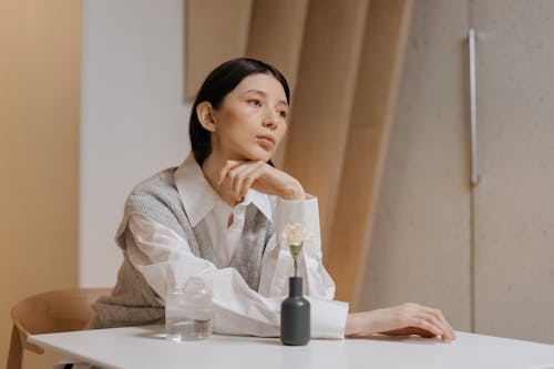
<path id="1" fill-rule="evenodd" d="M 444 341 L 455 339 L 452 326 L 440 310 L 412 303 L 348 315 L 346 336 L 369 336 L 373 334 L 389 336 L 418 335 L 428 338 L 441 337 Z"/>

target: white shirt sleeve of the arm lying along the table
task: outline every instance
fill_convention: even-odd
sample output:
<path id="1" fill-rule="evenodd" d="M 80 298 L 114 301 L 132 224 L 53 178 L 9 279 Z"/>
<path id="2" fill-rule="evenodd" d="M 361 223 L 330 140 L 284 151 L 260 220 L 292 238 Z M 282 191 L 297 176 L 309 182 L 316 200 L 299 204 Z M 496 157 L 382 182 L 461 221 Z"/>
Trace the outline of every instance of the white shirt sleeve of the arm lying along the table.
<path id="1" fill-rule="evenodd" d="M 264 297 L 248 287 L 235 268 L 217 269 L 194 256 L 187 242 L 172 229 L 132 214 L 127 255 L 147 284 L 164 299 L 166 288 L 184 286 L 192 277 L 212 281 L 214 330 L 222 334 L 279 336 L 283 296 Z M 310 298 L 312 337 L 342 338 L 348 305 Z"/>

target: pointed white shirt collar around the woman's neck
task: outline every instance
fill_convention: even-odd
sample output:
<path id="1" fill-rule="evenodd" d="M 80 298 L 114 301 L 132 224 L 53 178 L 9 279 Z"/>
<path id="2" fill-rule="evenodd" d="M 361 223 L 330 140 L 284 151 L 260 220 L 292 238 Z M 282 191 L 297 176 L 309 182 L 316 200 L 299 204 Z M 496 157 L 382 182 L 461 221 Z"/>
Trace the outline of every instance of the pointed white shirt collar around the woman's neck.
<path id="1" fill-rule="evenodd" d="M 185 207 L 191 225 L 196 226 L 216 204 L 223 203 L 219 195 L 209 185 L 202 167 L 188 154 L 185 161 L 175 170 L 175 185 Z M 269 196 L 256 189 L 248 189 L 245 198 L 238 205 L 254 204 L 267 219 L 271 221 L 271 204 Z"/>

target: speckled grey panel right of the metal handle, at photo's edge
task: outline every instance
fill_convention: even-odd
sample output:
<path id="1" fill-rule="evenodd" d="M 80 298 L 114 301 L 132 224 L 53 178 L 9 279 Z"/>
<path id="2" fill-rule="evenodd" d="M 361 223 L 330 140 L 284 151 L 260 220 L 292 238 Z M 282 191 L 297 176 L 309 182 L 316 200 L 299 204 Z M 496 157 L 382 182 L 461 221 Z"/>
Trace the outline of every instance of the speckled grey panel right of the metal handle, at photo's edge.
<path id="1" fill-rule="evenodd" d="M 554 344 L 554 2 L 471 3 L 475 330 Z"/>

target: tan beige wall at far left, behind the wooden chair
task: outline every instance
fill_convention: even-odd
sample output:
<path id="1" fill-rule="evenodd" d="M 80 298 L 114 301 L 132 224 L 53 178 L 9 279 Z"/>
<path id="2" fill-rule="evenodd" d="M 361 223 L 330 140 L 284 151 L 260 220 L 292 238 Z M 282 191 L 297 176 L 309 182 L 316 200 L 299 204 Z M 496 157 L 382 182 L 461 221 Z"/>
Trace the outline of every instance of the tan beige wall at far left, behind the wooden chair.
<path id="1" fill-rule="evenodd" d="M 80 42 L 80 1 L 0 1 L 1 366 L 12 304 L 78 283 Z"/>

